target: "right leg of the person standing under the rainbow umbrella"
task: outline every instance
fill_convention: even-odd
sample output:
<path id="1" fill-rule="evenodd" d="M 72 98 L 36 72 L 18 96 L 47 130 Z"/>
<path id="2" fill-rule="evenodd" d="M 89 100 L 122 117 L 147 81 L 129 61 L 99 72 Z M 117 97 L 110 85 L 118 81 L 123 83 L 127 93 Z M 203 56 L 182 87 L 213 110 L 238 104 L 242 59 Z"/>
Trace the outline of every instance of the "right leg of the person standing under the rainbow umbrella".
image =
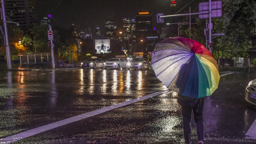
<path id="1" fill-rule="evenodd" d="M 195 107 L 193 107 L 194 119 L 197 124 L 197 137 L 198 142 L 204 142 L 204 119 L 203 119 L 203 110 L 204 110 L 204 98 L 201 98 L 197 101 Z"/>

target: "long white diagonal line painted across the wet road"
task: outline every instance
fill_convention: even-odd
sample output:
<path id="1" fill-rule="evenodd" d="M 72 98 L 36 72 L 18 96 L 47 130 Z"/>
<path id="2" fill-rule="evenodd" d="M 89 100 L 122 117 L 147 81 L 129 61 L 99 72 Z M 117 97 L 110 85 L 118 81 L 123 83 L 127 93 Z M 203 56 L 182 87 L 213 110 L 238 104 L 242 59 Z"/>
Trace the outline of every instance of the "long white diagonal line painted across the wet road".
<path id="1" fill-rule="evenodd" d="M 34 129 L 30 129 L 28 131 L 24 131 L 24 132 L 18 133 L 16 135 L 12 135 L 12 136 L 9 136 L 9 137 L 1 138 L 0 139 L 0 144 L 10 144 L 12 142 L 16 142 L 18 140 L 21 140 L 21 139 L 24 139 L 24 138 L 27 138 L 27 137 L 31 137 L 33 135 L 36 135 L 36 134 L 39 134 L 39 133 L 42 133 L 42 132 L 45 132 L 45 131 L 48 131 L 50 129 L 54 129 L 56 127 L 64 126 L 64 125 L 70 124 L 72 122 L 76 122 L 78 120 L 83 120 L 85 118 L 89 118 L 89 117 L 95 116 L 97 114 L 105 113 L 107 111 L 111 111 L 111 110 L 117 109 L 119 107 L 124 107 L 126 105 L 130 105 L 130 104 L 135 103 L 135 102 L 139 102 L 139 101 L 142 101 L 142 100 L 154 97 L 154 96 L 158 96 L 158 95 L 164 94 L 166 92 L 169 92 L 169 90 L 154 92 L 152 94 L 148 94 L 148 95 L 142 96 L 140 98 L 135 98 L 133 100 L 129 100 L 129 101 L 126 101 L 126 102 L 118 103 L 116 105 L 111 105 L 109 107 L 104 107 L 102 109 L 97 109 L 97 110 L 91 111 L 89 113 L 80 114 L 78 116 L 74 116 L 74 117 L 71 117 L 71 118 L 60 120 L 58 122 L 47 124 L 45 126 L 41 126 L 41 127 L 37 127 L 37 128 L 34 128 Z"/>

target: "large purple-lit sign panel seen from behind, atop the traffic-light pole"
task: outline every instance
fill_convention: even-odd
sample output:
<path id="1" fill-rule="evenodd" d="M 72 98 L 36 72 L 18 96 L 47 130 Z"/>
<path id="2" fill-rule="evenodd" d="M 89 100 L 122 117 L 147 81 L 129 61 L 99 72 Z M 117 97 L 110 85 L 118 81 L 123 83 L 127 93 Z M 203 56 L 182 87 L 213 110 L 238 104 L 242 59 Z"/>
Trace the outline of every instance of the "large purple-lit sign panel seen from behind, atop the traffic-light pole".
<path id="1" fill-rule="evenodd" d="M 201 2 L 199 4 L 199 13 L 208 12 L 209 11 L 209 2 Z M 221 1 L 213 1 L 211 2 L 211 18 L 221 17 L 222 15 L 222 2 Z M 209 18 L 209 14 L 200 14 L 199 18 Z"/>

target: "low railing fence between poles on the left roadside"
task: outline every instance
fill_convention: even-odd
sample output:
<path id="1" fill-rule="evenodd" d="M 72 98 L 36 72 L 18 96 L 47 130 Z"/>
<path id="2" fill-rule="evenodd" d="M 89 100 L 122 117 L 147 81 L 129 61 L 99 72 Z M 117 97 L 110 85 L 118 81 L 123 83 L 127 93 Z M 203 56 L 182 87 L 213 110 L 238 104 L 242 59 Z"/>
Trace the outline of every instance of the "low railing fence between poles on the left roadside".
<path id="1" fill-rule="evenodd" d="M 20 65 L 51 61 L 51 53 L 19 55 Z"/>

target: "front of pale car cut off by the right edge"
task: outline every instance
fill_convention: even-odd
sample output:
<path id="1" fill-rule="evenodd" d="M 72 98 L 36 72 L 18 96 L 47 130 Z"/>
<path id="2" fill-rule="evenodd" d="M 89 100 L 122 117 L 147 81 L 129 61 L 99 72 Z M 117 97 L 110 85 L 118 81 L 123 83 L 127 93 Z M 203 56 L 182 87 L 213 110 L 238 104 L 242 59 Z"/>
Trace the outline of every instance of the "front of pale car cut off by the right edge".
<path id="1" fill-rule="evenodd" d="M 249 82 L 245 89 L 245 100 L 250 105 L 256 106 L 256 79 Z"/>

